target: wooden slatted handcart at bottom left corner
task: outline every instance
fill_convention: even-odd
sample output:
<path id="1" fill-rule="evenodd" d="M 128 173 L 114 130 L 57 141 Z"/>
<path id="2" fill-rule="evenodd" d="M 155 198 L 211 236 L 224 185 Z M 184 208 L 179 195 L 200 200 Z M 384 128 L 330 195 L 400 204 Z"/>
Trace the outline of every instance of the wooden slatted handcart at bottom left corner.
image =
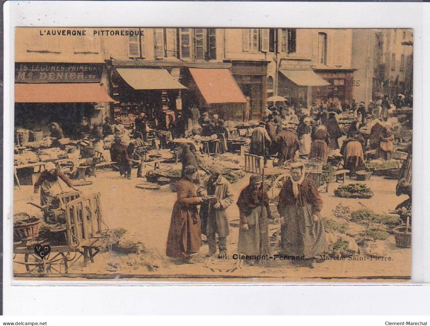
<path id="1" fill-rule="evenodd" d="M 23 239 L 14 243 L 14 275 L 19 277 L 34 274 L 67 274 L 68 269 L 83 256 L 83 266 L 88 261 L 94 262 L 94 256 L 100 252 L 98 241 L 103 238 L 104 222 L 102 219 L 100 194 L 76 197 L 64 202 L 66 223 L 64 225 L 64 245 L 52 245 L 52 239 Z M 43 259 L 34 251 L 35 245 L 51 247 Z M 20 270 L 20 267 L 22 271 Z M 22 268 L 22 266 L 25 267 Z"/>

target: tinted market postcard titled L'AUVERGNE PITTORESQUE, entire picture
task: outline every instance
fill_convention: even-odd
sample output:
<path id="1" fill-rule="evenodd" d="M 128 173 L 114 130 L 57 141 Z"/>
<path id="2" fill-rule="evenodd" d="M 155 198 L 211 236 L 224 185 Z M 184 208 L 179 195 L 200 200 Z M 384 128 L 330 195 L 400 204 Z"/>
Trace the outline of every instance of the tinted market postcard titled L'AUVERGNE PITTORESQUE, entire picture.
<path id="1" fill-rule="evenodd" d="M 15 280 L 407 282 L 413 40 L 16 28 Z"/>

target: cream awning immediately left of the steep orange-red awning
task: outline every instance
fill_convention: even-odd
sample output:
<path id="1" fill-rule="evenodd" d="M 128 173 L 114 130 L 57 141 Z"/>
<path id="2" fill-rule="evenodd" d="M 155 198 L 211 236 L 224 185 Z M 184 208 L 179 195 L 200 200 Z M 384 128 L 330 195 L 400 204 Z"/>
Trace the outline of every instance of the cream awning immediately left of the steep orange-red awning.
<path id="1" fill-rule="evenodd" d="M 117 68 L 118 74 L 134 89 L 186 89 L 166 69 Z"/>

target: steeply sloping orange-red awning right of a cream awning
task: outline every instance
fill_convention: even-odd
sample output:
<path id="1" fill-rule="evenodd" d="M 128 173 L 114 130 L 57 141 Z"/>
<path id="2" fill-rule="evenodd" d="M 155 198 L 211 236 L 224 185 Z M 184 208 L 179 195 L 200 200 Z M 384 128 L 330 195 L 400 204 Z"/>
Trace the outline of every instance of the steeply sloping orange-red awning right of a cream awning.
<path id="1" fill-rule="evenodd" d="M 206 103 L 246 103 L 228 69 L 189 68 Z"/>

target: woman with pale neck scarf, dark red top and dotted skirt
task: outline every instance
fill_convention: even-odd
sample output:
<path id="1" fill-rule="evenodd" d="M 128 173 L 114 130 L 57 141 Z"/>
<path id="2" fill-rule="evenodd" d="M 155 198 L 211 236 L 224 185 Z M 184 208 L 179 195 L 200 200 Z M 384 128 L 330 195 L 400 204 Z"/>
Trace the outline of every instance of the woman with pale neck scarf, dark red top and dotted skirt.
<path id="1" fill-rule="evenodd" d="M 307 259 L 313 267 L 316 256 L 326 250 L 325 231 L 319 218 L 322 200 L 313 180 L 305 178 L 303 164 L 293 164 L 290 171 L 291 178 L 279 193 L 281 252 Z"/>

